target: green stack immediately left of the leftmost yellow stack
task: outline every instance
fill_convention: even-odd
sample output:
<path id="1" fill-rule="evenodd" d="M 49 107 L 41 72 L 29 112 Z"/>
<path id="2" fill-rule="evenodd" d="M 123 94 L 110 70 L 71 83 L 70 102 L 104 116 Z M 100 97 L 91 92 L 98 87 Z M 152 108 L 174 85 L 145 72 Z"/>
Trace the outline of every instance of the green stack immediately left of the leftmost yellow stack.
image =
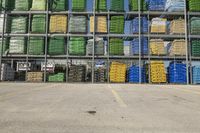
<path id="1" fill-rule="evenodd" d="M 45 33 L 46 15 L 33 15 L 31 29 L 32 33 Z"/>

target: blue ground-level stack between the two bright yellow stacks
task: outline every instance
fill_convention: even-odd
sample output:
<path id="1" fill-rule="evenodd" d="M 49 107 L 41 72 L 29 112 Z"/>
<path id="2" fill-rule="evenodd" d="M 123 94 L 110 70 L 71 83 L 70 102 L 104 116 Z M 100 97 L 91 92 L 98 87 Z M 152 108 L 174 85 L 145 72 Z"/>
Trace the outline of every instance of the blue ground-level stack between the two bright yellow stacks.
<path id="1" fill-rule="evenodd" d="M 141 69 L 141 82 L 146 83 L 146 71 L 145 68 L 140 68 L 139 66 L 131 66 L 128 71 L 128 79 L 130 83 L 139 83 Z"/>

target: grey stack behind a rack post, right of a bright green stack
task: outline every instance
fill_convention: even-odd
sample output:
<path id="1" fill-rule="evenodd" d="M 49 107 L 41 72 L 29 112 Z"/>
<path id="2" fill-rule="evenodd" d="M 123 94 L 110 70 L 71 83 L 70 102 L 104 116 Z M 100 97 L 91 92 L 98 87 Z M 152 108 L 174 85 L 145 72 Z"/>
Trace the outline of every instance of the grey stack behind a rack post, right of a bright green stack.
<path id="1" fill-rule="evenodd" d="M 87 55 L 93 55 L 93 39 L 87 41 Z M 94 44 L 94 55 L 104 55 L 105 53 L 105 42 L 103 38 L 96 38 Z"/>

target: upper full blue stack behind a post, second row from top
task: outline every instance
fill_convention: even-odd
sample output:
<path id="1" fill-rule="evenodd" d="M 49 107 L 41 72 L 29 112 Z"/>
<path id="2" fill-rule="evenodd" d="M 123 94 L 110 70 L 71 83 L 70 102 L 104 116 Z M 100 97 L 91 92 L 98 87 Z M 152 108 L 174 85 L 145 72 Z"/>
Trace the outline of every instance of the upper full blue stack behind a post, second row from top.
<path id="1" fill-rule="evenodd" d="M 148 32 L 148 20 L 146 17 L 141 17 L 141 33 Z M 133 34 L 139 33 L 139 18 L 133 19 Z"/>

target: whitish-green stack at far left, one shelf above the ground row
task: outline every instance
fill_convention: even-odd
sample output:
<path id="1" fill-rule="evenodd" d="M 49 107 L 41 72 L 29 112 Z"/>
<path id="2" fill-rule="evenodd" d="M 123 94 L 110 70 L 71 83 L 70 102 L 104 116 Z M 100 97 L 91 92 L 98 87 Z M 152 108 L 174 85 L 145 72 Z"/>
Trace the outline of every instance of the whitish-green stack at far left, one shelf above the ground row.
<path id="1" fill-rule="evenodd" d="M 11 37 L 9 41 L 9 53 L 25 54 L 26 41 L 25 37 Z"/>

